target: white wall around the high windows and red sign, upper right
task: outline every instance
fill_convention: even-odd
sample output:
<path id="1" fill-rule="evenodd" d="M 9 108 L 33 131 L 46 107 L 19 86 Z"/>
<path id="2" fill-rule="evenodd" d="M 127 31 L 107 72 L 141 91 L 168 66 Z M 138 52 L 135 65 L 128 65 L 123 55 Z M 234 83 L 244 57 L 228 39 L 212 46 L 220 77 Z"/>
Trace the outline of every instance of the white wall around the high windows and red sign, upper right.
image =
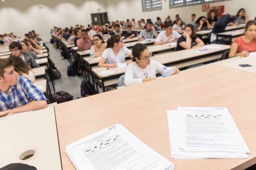
<path id="1" fill-rule="evenodd" d="M 159 16 L 162 21 L 169 15 L 172 20 L 175 20 L 175 15 L 179 14 L 180 18 L 187 23 L 193 13 L 196 14 L 196 19 L 200 16 L 206 16 L 206 12 L 202 12 L 202 5 L 193 5 L 189 7 L 169 8 L 169 0 L 162 0 L 162 10 L 142 12 L 141 0 L 106 0 L 107 12 L 109 21 L 122 20 L 134 18 L 136 21 L 143 18 L 152 19 L 153 22 Z M 236 14 L 240 8 L 245 8 L 249 19 L 254 19 L 255 0 L 230 0 L 223 2 L 211 3 L 210 6 L 225 5 L 225 12 Z M 243 5 L 244 4 L 244 5 Z"/>

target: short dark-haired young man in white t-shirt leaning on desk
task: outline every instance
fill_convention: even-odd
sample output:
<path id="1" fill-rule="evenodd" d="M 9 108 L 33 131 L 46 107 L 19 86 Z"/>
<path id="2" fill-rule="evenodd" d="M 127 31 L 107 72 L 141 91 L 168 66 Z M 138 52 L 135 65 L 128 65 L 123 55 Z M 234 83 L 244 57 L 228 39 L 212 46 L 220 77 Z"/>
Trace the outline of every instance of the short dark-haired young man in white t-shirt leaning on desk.
<path id="1" fill-rule="evenodd" d="M 158 34 L 154 45 L 161 45 L 168 42 L 176 42 L 181 37 L 181 34 L 173 30 L 173 23 L 165 23 L 164 28 L 165 30 Z"/>

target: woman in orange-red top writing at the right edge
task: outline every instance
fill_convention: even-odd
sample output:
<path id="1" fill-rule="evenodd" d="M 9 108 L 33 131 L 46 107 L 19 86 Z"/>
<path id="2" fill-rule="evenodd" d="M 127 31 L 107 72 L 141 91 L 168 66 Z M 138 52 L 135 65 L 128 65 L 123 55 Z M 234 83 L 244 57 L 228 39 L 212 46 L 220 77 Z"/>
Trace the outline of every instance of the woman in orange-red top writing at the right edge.
<path id="1" fill-rule="evenodd" d="M 256 21 L 249 21 L 244 29 L 245 34 L 232 42 L 229 58 L 236 56 L 247 57 L 250 52 L 256 52 Z"/>

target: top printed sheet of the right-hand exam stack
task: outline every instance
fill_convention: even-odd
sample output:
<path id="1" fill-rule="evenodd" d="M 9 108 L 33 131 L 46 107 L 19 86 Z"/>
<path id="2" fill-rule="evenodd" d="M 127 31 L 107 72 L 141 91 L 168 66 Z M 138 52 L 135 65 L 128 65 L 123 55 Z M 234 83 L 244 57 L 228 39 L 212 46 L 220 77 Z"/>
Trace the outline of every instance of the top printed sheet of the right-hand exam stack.
<path id="1" fill-rule="evenodd" d="M 178 107 L 179 146 L 187 150 L 249 153 L 225 107 Z"/>

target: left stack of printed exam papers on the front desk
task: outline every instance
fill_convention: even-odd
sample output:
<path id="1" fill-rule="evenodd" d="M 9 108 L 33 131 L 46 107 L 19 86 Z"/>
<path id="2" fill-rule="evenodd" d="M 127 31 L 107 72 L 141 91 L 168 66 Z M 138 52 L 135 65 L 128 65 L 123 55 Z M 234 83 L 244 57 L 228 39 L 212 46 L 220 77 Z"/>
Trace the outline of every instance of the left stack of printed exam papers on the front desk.
<path id="1" fill-rule="evenodd" d="M 174 164 L 115 124 L 66 146 L 77 170 L 173 170 Z"/>

